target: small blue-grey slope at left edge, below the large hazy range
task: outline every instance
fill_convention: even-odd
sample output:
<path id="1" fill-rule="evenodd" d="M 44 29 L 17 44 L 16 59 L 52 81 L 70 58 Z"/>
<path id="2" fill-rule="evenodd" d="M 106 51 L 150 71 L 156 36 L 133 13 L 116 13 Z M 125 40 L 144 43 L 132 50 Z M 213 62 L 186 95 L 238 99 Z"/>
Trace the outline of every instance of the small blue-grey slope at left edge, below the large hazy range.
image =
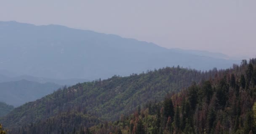
<path id="1" fill-rule="evenodd" d="M 35 101 L 60 88 L 54 83 L 38 83 L 28 80 L 0 83 L 0 101 L 13 106 L 20 106 L 29 101 Z"/>

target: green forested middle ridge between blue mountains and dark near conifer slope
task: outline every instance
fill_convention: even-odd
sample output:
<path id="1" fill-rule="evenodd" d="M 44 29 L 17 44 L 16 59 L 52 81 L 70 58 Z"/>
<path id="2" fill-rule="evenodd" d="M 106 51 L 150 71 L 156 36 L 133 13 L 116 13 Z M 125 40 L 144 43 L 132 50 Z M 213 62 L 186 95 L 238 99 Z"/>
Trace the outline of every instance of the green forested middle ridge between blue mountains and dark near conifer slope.
<path id="1" fill-rule="evenodd" d="M 148 101 L 160 102 L 167 93 L 179 91 L 194 81 L 200 82 L 216 73 L 216 69 L 200 72 L 181 67 L 166 67 L 129 77 L 114 76 L 107 80 L 79 83 L 15 108 L 0 122 L 8 128 L 16 128 L 46 121 L 51 117 L 56 119 L 62 113 L 74 111 L 97 116 L 101 120 L 116 120 L 121 114 L 132 113 Z M 71 119 L 65 118 L 65 121 L 69 124 L 65 128 L 74 127 Z M 92 124 L 86 127 L 89 126 Z M 60 127 L 54 128 L 54 132 Z"/>

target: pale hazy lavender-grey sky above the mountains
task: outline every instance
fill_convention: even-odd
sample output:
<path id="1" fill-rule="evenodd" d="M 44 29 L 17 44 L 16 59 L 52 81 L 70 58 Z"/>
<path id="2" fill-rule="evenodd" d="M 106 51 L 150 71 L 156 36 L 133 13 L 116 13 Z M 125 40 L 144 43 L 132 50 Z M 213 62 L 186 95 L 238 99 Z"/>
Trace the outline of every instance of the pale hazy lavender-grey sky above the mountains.
<path id="1" fill-rule="evenodd" d="M 11 20 L 256 56 L 256 0 L 1 0 L 0 21 Z"/>

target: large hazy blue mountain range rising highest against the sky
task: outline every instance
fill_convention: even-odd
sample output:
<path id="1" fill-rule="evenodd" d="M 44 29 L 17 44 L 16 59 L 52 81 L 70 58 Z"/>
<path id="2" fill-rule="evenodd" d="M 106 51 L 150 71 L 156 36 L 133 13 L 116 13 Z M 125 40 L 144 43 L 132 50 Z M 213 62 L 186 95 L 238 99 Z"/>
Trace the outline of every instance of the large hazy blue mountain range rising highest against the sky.
<path id="1" fill-rule="evenodd" d="M 19 76 L 94 80 L 177 65 L 198 70 L 224 69 L 239 62 L 224 54 L 166 49 L 65 26 L 0 22 L 0 70 Z"/>

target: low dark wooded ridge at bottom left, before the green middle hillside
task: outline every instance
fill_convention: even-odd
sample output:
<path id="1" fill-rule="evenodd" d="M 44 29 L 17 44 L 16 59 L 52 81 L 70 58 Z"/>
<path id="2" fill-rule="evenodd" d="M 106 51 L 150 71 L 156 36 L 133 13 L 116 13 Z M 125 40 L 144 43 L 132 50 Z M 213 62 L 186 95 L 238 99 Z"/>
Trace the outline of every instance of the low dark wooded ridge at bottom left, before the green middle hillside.
<path id="1" fill-rule="evenodd" d="M 13 129 L 12 132 L 17 134 L 19 134 L 18 131 L 23 131 L 25 134 L 58 134 L 58 131 L 61 130 L 61 133 L 63 131 L 64 134 L 85 134 L 84 126 L 90 127 L 99 122 L 100 120 L 95 116 L 69 111 L 35 124 L 27 124 Z"/>

